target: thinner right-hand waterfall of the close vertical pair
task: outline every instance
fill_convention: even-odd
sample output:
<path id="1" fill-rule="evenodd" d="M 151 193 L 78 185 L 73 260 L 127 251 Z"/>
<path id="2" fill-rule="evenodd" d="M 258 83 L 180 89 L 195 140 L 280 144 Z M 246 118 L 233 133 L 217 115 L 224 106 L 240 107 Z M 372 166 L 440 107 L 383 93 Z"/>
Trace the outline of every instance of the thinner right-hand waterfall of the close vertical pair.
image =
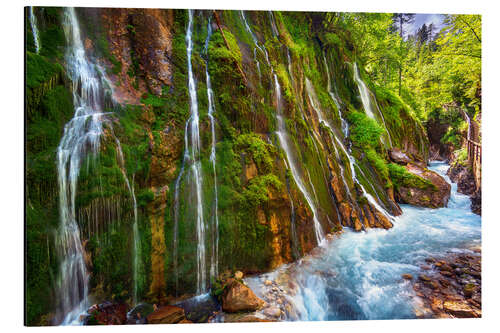
<path id="1" fill-rule="evenodd" d="M 215 103 L 214 93 L 212 91 L 212 84 L 210 83 L 210 74 L 208 73 L 208 43 L 212 36 L 212 24 L 210 19 L 207 25 L 207 38 L 205 40 L 205 76 L 207 80 L 207 97 L 208 97 L 208 117 L 210 118 L 210 130 L 212 132 L 212 147 L 210 150 L 210 162 L 212 162 L 212 169 L 214 172 L 214 225 L 212 227 L 212 257 L 210 261 L 210 278 L 216 278 L 219 273 L 219 197 L 217 193 L 217 171 L 216 171 L 216 152 L 215 152 Z M 255 51 L 255 49 L 254 49 Z M 259 71 L 260 73 L 260 71 Z"/>

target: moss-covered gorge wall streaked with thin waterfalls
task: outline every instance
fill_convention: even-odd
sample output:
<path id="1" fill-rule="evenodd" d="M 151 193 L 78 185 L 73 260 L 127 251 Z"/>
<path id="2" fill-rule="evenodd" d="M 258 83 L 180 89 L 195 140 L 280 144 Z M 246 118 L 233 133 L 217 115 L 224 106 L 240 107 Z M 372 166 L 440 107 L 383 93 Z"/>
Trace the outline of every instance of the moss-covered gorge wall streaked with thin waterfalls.
<path id="1" fill-rule="evenodd" d="M 78 84 L 68 79 L 63 9 L 33 15 L 26 320 L 37 324 L 58 311 L 55 161 Z M 437 191 L 389 154 L 425 168 L 423 126 L 370 81 L 349 32 L 323 34 L 318 15 L 76 10 L 108 94 L 100 153 L 82 161 L 75 203 L 95 301 L 204 292 L 225 271 L 298 259 L 342 227 L 390 228 L 401 188 Z"/>

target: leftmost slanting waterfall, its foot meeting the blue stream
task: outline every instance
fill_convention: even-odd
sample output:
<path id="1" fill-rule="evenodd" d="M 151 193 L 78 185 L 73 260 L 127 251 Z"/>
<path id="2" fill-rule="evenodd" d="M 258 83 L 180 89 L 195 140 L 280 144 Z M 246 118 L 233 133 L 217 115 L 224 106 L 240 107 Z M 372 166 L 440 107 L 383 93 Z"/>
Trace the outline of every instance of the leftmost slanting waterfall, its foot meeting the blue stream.
<path id="1" fill-rule="evenodd" d="M 281 147 L 285 151 L 285 155 L 290 165 L 290 170 L 292 171 L 293 179 L 295 180 L 295 183 L 297 184 L 297 187 L 299 188 L 300 192 L 304 195 L 304 198 L 306 199 L 307 204 L 309 205 L 313 213 L 314 233 L 316 236 L 316 242 L 319 245 L 322 243 L 324 235 L 323 235 L 323 230 L 321 228 L 321 224 L 319 223 L 318 220 L 318 210 L 311 198 L 310 193 L 306 189 L 302 181 L 302 178 L 300 177 L 299 170 L 292 156 L 292 151 L 290 148 L 290 139 L 288 138 L 285 119 L 281 108 L 281 87 L 278 82 L 278 76 L 276 75 L 276 73 L 273 74 L 274 74 L 274 87 L 276 93 L 276 119 L 278 121 L 278 131 L 276 132 L 276 134 L 278 135 Z"/>

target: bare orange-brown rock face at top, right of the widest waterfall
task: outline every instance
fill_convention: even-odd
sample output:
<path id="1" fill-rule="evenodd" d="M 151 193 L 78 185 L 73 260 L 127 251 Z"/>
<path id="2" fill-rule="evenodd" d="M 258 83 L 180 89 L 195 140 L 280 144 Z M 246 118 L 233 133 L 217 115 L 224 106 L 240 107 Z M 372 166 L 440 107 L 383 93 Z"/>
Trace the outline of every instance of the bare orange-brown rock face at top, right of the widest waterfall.
<path id="1" fill-rule="evenodd" d="M 103 62 L 114 68 L 108 76 L 116 101 L 140 104 L 148 91 L 161 94 L 164 85 L 171 85 L 173 11 L 105 8 L 100 13 L 113 57 L 113 63 Z"/>

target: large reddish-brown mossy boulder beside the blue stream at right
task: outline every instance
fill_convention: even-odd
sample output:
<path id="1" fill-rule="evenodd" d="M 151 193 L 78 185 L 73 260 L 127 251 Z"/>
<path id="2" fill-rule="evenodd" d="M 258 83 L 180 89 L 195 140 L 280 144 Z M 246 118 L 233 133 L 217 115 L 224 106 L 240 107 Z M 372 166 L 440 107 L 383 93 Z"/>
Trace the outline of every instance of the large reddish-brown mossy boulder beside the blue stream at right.
<path id="1" fill-rule="evenodd" d="M 429 208 L 445 207 L 448 204 L 451 185 L 443 177 L 415 164 L 408 164 L 405 168 L 423 181 L 400 185 L 396 192 L 399 202 Z"/>

